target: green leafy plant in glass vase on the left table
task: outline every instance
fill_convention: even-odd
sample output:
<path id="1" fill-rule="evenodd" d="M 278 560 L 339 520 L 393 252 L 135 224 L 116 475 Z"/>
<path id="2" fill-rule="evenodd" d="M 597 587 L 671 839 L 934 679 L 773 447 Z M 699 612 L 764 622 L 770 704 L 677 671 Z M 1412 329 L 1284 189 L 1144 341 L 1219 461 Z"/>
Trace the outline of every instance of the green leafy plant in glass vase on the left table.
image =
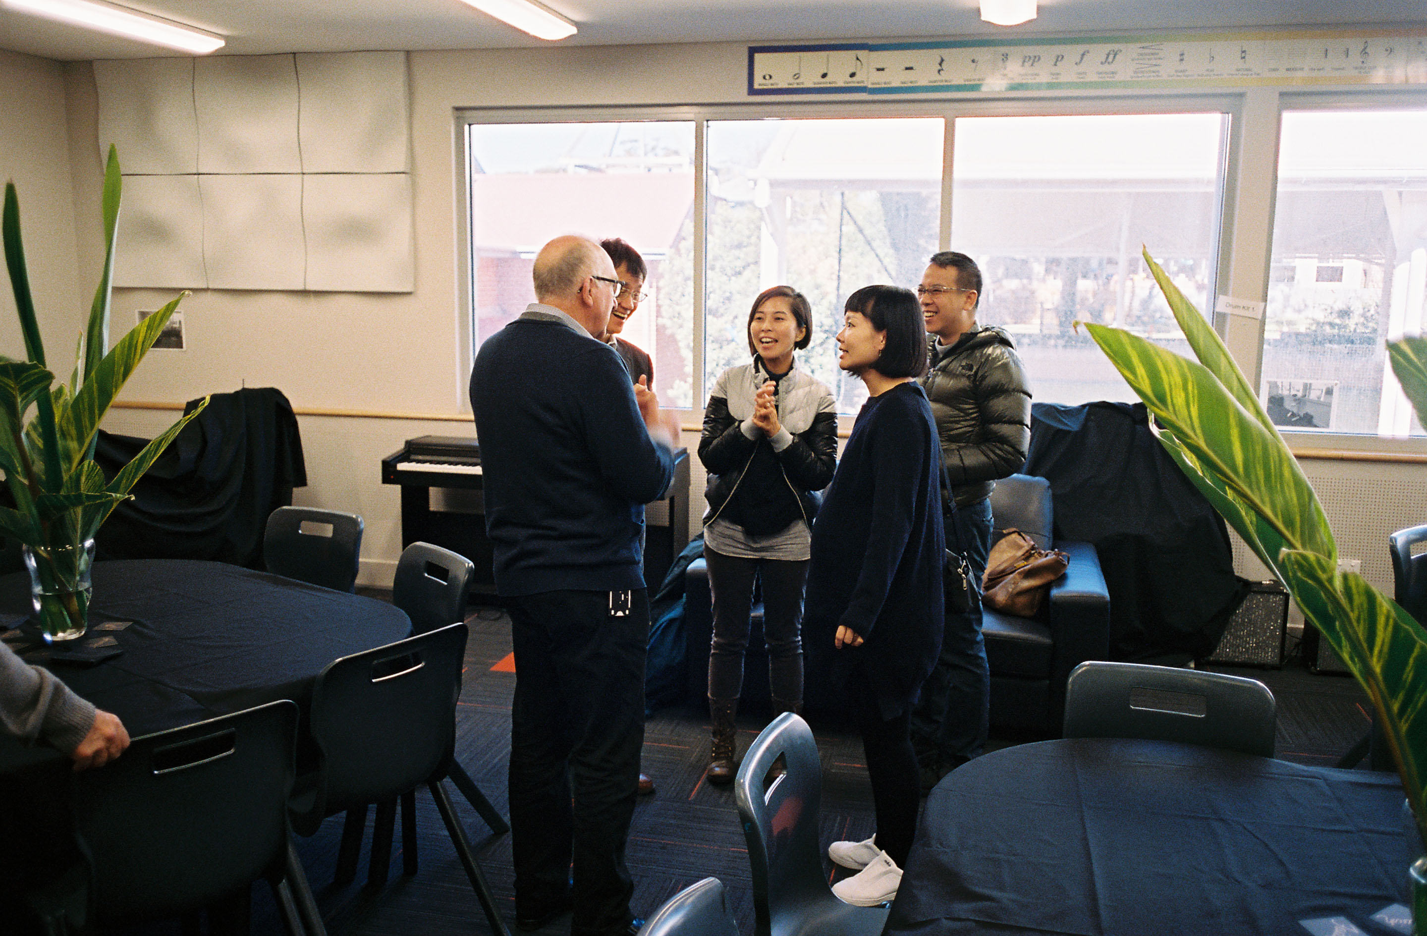
<path id="1" fill-rule="evenodd" d="M 0 531 L 24 545 L 34 619 L 49 642 L 84 634 L 94 534 L 168 442 L 203 410 L 200 405 L 168 427 L 113 479 L 106 479 L 94 462 L 100 421 L 188 295 L 180 294 L 108 348 L 120 188 L 118 154 L 111 146 L 104 170 L 104 271 L 68 384 L 57 382 L 46 362 L 24 265 L 14 183 L 4 190 L 4 258 L 24 335 L 24 360 L 0 355 L 0 471 L 14 499 L 13 508 L 0 507 Z"/>

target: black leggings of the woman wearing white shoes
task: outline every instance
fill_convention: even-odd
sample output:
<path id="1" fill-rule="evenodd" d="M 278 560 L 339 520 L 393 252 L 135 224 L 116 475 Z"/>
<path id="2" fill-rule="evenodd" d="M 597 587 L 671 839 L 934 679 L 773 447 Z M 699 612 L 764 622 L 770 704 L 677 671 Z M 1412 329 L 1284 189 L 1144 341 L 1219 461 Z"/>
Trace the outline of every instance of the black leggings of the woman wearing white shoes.
<path id="1" fill-rule="evenodd" d="M 848 695 L 852 701 L 852 718 L 862 732 L 862 752 L 872 780 L 872 805 L 878 815 L 876 845 L 898 868 L 906 869 L 906 856 L 916 835 L 916 808 L 922 799 L 916 755 L 912 751 L 910 709 L 883 719 L 872 682 L 860 673 L 848 681 Z"/>

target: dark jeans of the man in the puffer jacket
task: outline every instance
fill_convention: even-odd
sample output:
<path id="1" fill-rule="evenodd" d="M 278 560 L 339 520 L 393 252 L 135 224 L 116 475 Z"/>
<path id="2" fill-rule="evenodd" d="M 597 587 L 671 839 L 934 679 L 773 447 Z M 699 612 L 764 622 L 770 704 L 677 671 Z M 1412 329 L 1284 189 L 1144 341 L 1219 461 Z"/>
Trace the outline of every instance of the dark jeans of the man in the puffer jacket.
<path id="1" fill-rule="evenodd" d="M 956 526 L 977 585 L 990 552 L 990 499 L 956 509 Z M 952 519 L 946 518 L 946 546 L 956 548 Z M 946 615 L 942 653 L 922 683 L 922 698 L 912 712 L 912 746 L 922 766 L 959 768 L 986 746 L 990 725 L 990 671 L 980 634 L 980 611 Z"/>

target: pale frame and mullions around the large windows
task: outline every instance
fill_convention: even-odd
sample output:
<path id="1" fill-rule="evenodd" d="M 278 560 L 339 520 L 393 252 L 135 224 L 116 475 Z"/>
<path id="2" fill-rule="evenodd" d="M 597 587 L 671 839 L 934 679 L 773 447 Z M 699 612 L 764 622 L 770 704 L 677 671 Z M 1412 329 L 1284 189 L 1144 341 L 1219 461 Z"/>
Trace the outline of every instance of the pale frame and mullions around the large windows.
<path id="1" fill-rule="evenodd" d="M 1040 117 L 1040 116 L 1099 116 L 1099 114 L 1224 114 L 1226 133 L 1222 140 L 1219 173 L 1219 244 L 1212 283 L 1216 295 L 1263 300 L 1267 295 L 1270 254 L 1273 250 L 1273 211 L 1277 195 L 1277 147 L 1281 116 L 1286 110 L 1394 110 L 1424 108 L 1420 88 L 1374 87 L 1361 90 L 1296 90 L 1291 86 L 1259 86 L 1229 90 L 1154 91 L 1056 91 L 1005 94 L 930 94 L 906 96 L 895 100 L 756 100 L 725 104 L 645 106 L 612 104 L 596 107 L 471 107 L 454 111 L 455 203 L 464 211 L 457 220 L 455 235 L 459 264 L 457 274 L 458 308 L 464 315 L 459 354 L 467 368 L 474 361 L 474 257 L 471 254 L 469 204 L 469 147 L 467 127 L 491 123 L 632 123 L 646 120 L 692 121 L 695 133 L 694 211 L 706 215 L 708 164 L 706 124 L 711 120 L 799 120 L 799 118 L 876 118 L 876 117 L 939 117 L 945 121 L 942 153 L 942 191 L 938 244 L 950 248 L 952 180 L 955 134 L 958 117 Z M 1266 156 L 1271 161 L 1264 166 Z M 695 405 L 691 417 L 702 407 L 698 401 L 708 395 L 704 375 L 704 334 L 706 315 L 705 288 L 705 225 L 695 224 L 694 243 L 694 348 L 691 354 L 691 384 Z M 1206 314 L 1210 310 L 1203 310 Z M 1246 322 L 1240 317 L 1213 310 L 1213 325 L 1246 378 L 1253 385 L 1260 380 L 1263 362 L 1264 320 Z M 469 405 L 468 402 L 465 404 Z M 850 427 L 852 417 L 839 418 L 842 428 Z M 1304 449 L 1344 449 L 1371 452 L 1427 454 L 1427 439 L 1354 435 L 1344 432 L 1296 432 L 1284 437 Z"/>

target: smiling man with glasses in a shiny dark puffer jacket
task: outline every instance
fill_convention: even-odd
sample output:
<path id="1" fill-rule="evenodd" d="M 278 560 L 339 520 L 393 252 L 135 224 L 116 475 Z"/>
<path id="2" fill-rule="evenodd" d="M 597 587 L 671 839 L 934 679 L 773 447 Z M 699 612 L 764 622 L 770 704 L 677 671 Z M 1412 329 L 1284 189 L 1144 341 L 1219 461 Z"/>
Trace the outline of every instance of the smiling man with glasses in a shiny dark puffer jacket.
<path id="1" fill-rule="evenodd" d="M 976 261 L 956 251 L 935 254 L 916 288 L 932 342 L 922 388 L 952 485 L 942 491 L 946 544 L 960 542 L 977 582 L 990 552 L 990 491 L 997 478 L 1020 471 L 1030 447 L 1026 372 L 1010 335 L 976 324 L 980 291 Z M 942 653 L 912 712 L 923 792 L 986 745 L 990 672 L 980 628 L 979 609 L 946 615 Z"/>

